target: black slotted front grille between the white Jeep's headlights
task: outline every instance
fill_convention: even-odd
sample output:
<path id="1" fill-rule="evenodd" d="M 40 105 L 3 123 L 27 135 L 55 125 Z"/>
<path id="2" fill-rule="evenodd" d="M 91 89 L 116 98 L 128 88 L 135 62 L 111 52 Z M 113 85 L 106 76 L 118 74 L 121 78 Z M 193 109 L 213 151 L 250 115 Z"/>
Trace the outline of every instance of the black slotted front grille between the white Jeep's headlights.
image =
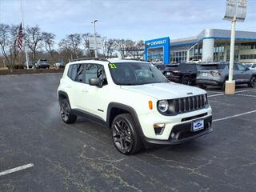
<path id="1" fill-rule="evenodd" d="M 174 99 L 175 112 L 177 114 L 187 113 L 193 110 L 200 110 L 205 108 L 206 104 L 206 94 Z"/>

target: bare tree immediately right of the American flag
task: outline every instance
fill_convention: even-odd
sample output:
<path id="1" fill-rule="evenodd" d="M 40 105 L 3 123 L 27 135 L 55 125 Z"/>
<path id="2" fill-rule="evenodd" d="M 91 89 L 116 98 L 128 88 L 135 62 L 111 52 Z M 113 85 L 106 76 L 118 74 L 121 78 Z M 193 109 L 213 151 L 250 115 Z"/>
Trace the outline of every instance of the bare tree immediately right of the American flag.
<path id="1" fill-rule="evenodd" d="M 36 62 L 36 52 L 42 46 L 42 33 L 39 26 L 27 26 L 25 34 L 26 46 L 32 51 L 32 60 Z"/>

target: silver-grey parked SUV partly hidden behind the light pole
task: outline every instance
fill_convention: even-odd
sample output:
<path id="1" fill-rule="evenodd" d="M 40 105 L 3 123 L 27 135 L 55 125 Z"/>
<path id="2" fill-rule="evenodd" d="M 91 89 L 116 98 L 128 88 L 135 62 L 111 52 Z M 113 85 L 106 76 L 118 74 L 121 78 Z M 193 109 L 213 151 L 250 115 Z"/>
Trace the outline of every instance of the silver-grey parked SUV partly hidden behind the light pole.
<path id="1" fill-rule="evenodd" d="M 197 84 L 201 88 L 206 86 L 222 86 L 225 89 L 225 82 L 228 79 L 229 64 L 204 64 L 198 71 Z M 256 71 L 250 70 L 246 66 L 234 63 L 234 81 L 236 84 L 248 84 L 250 87 L 256 86 Z"/>

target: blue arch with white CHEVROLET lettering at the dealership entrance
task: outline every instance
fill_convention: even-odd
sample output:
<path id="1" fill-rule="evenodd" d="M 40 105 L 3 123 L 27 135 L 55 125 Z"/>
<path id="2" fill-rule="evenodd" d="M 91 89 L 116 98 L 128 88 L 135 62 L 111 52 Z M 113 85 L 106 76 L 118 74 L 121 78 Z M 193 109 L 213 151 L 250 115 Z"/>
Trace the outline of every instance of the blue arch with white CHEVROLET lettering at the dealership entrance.
<path id="1" fill-rule="evenodd" d="M 170 38 L 156 38 L 145 41 L 145 60 L 162 60 L 164 64 L 170 63 Z"/>

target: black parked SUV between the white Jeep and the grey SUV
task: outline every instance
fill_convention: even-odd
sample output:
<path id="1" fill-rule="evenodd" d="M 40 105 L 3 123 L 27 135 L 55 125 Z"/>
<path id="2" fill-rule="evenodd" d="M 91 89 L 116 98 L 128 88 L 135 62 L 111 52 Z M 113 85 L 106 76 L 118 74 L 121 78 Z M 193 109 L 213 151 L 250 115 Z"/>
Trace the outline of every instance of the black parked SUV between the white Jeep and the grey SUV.
<path id="1" fill-rule="evenodd" d="M 167 65 L 163 74 L 172 82 L 194 85 L 197 78 L 198 67 L 199 65 L 195 63 Z"/>

